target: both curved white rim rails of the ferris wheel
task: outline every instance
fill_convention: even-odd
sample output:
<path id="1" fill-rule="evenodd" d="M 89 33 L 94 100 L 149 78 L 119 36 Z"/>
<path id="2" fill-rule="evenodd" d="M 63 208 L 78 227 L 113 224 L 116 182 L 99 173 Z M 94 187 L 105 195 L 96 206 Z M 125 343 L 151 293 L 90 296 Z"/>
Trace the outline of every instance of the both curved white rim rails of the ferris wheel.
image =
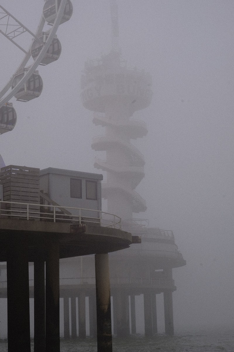
<path id="1" fill-rule="evenodd" d="M 29 80 L 29 78 L 32 76 L 32 74 L 36 70 L 36 68 L 39 66 L 41 60 L 45 57 L 46 52 L 49 49 L 49 46 L 52 44 L 52 41 L 53 41 L 54 36 L 56 34 L 56 31 L 58 30 L 58 27 L 60 25 L 60 21 L 62 19 L 63 12 L 65 10 L 66 4 L 67 4 L 67 0 L 62 0 L 61 1 L 58 13 L 56 15 L 54 24 L 51 27 L 51 30 L 49 32 L 48 38 L 46 40 L 46 43 L 43 46 L 43 48 L 41 49 L 41 51 L 40 51 L 38 57 L 36 58 L 35 62 L 31 66 L 28 67 L 28 70 L 27 70 L 26 74 L 24 75 L 24 77 L 11 90 L 10 93 L 8 93 L 6 96 L 4 96 L 8 92 L 8 90 L 11 88 L 11 86 L 12 86 L 12 81 L 13 81 L 14 75 L 16 75 L 17 73 L 22 71 L 22 69 L 26 67 L 26 64 L 28 63 L 29 59 L 31 58 L 31 52 L 30 52 L 31 45 L 30 45 L 30 48 L 28 49 L 28 52 L 25 54 L 24 59 L 22 60 L 22 62 L 20 63 L 19 67 L 15 71 L 15 74 L 11 77 L 11 79 L 6 84 L 6 86 L 1 90 L 1 92 L 0 92 L 0 108 L 2 106 L 4 106 L 10 99 L 12 99 L 16 93 L 19 92 L 19 90 L 24 86 L 24 84 Z M 38 25 L 37 30 L 36 30 L 36 34 L 35 34 L 34 37 L 39 37 L 41 35 L 45 23 L 46 23 L 46 21 L 45 21 L 45 19 L 43 17 L 43 14 L 42 14 L 41 18 L 40 18 L 39 25 Z"/>

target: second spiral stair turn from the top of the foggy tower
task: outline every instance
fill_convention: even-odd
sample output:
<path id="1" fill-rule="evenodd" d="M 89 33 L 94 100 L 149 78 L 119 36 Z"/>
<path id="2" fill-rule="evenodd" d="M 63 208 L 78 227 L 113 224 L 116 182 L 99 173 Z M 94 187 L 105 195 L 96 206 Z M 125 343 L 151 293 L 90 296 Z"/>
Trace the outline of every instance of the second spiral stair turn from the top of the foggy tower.
<path id="1" fill-rule="evenodd" d="M 113 147 L 120 147 L 131 160 L 132 166 L 144 166 L 145 158 L 143 154 L 131 143 L 125 142 L 118 137 L 98 136 L 92 140 L 92 149 L 95 151 L 105 151 Z M 120 156 L 121 157 L 121 156 Z"/>

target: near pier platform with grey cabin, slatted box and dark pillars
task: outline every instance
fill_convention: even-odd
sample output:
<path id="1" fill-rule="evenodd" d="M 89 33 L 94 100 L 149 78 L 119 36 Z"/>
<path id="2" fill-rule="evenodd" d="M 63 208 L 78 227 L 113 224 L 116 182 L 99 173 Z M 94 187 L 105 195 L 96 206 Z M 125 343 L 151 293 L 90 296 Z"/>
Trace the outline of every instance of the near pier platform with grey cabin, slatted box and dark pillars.
<path id="1" fill-rule="evenodd" d="M 63 187 L 58 188 L 57 194 L 58 191 L 66 194 L 69 190 L 70 198 L 73 196 L 80 201 L 84 198 L 86 204 L 95 201 L 95 195 L 96 207 L 84 209 L 60 206 L 51 200 L 46 191 L 40 190 L 39 171 L 15 165 L 5 166 L 0 171 L 3 194 L 3 200 L 0 200 L 0 262 L 6 262 L 6 267 L 1 267 L 0 294 L 1 297 L 7 296 L 8 351 L 31 351 L 30 294 L 34 296 L 34 351 L 60 351 L 60 259 L 95 254 L 98 351 L 111 352 L 108 253 L 127 248 L 140 239 L 121 230 L 119 216 L 103 213 L 99 209 L 102 175 L 77 174 L 69 170 L 65 173 Z M 56 178 L 58 170 L 49 171 L 42 172 L 41 183 L 45 187 L 60 182 Z M 64 172 L 60 173 L 63 177 Z M 68 187 L 66 178 L 69 180 Z M 52 191 L 53 187 L 48 189 Z M 34 263 L 31 289 L 29 262 Z M 5 286 L 2 282 L 4 270 L 7 271 Z M 64 300 L 65 306 L 66 303 Z"/>

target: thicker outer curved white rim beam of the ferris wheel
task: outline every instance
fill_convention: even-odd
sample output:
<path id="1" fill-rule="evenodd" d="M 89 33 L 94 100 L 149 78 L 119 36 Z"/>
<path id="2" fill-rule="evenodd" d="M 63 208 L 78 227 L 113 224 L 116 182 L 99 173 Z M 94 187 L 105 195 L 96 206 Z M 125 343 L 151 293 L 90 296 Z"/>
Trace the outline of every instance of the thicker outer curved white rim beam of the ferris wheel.
<path id="1" fill-rule="evenodd" d="M 49 46 L 52 44 L 53 38 L 55 36 L 55 33 L 58 30 L 58 27 L 60 25 L 60 20 L 62 19 L 63 12 L 65 10 L 66 4 L 67 4 L 67 0 L 62 0 L 61 1 L 57 17 L 56 17 L 56 19 L 54 21 L 54 24 L 52 26 L 52 29 L 51 29 L 49 35 L 48 35 L 47 41 L 46 41 L 45 45 L 43 46 L 43 48 L 40 51 L 40 54 L 38 55 L 38 57 L 37 57 L 36 61 L 34 62 L 34 64 L 28 69 L 28 71 L 24 75 L 24 77 L 19 81 L 19 83 L 12 89 L 12 91 L 9 94 L 7 94 L 5 96 L 5 98 L 3 98 L 0 101 L 0 108 L 2 106 L 4 106 L 4 104 L 7 103 L 10 99 L 12 99 L 13 96 L 20 90 L 20 88 L 22 88 L 24 86 L 24 84 L 28 81 L 28 79 L 31 77 L 33 72 L 36 70 L 36 68 L 40 64 L 42 58 L 44 58 L 47 50 L 49 49 Z"/>

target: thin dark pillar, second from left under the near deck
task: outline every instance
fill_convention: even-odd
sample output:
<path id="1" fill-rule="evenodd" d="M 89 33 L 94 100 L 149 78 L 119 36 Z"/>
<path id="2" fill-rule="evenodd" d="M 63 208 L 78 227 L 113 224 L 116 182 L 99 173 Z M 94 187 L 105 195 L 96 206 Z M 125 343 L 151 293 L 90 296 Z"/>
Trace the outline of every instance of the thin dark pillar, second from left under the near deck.
<path id="1" fill-rule="evenodd" d="M 34 259 L 34 352 L 45 352 L 45 260 Z"/>

